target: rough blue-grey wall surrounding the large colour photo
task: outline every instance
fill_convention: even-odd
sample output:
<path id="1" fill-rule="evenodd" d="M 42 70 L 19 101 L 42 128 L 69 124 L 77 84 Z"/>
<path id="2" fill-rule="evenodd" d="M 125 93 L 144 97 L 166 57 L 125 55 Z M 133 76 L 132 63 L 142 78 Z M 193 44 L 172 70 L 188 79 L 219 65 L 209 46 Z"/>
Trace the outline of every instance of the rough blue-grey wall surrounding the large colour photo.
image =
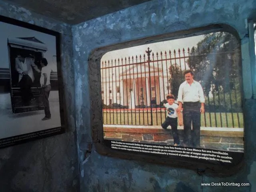
<path id="1" fill-rule="evenodd" d="M 153 0 L 73 26 L 76 125 L 82 191 L 249 192 L 255 190 L 256 154 L 253 152 L 256 148 L 254 139 L 256 100 L 250 99 L 252 84 L 245 24 L 245 19 L 255 18 L 255 14 L 254 0 Z M 100 55 L 102 54 L 94 55 L 96 62 L 92 63 L 88 62 L 90 53 L 103 46 L 218 23 L 232 26 L 241 38 L 245 111 L 244 168 L 236 175 L 226 178 L 200 176 L 192 170 L 101 156 L 95 151 L 94 146 L 91 154 L 84 158 L 85 151 L 88 150 L 87 144 L 92 142 L 91 126 L 92 128 L 102 126 L 100 111 Z M 250 186 L 202 187 L 201 182 L 250 182 Z"/>

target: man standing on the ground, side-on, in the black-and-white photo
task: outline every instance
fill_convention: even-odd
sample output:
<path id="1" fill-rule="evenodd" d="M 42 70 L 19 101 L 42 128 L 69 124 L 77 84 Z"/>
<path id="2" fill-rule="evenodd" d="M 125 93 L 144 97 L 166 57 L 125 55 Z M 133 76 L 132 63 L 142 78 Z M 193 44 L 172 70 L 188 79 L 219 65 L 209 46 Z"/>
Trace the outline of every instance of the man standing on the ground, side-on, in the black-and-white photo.
<path id="1" fill-rule="evenodd" d="M 49 95 L 52 89 L 50 84 L 50 75 L 51 75 L 52 69 L 48 66 L 48 62 L 46 58 L 42 58 L 40 60 L 40 64 L 42 66 L 40 84 L 42 87 L 44 114 L 45 114 L 42 120 L 48 120 L 51 118 Z"/>

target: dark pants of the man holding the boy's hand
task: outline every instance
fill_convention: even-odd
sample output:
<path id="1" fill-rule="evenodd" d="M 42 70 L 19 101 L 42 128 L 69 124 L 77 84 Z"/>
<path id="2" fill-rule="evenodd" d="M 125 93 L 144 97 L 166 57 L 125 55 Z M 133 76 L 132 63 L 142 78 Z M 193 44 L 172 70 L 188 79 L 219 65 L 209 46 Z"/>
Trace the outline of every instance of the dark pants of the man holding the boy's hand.
<path id="1" fill-rule="evenodd" d="M 183 142 L 186 146 L 200 147 L 200 107 L 200 102 L 184 102 L 183 104 Z M 193 130 L 191 130 L 191 122 Z"/>

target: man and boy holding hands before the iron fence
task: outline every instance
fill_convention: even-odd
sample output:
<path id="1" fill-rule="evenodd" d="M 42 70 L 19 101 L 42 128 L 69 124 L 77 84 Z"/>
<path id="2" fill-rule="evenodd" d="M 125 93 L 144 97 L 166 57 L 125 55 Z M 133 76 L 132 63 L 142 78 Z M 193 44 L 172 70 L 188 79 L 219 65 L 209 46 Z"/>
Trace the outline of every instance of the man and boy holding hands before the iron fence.
<path id="1" fill-rule="evenodd" d="M 178 105 L 174 103 L 174 95 L 169 94 L 166 97 L 168 103 L 165 103 L 164 107 L 167 109 L 167 117 L 162 124 L 162 128 L 166 129 L 171 126 L 174 146 L 180 145 L 177 125 L 178 114 L 182 110 L 184 122 L 183 146 L 200 147 L 200 114 L 204 113 L 204 92 L 201 84 L 194 80 L 192 70 L 186 70 L 184 76 L 185 81 L 180 84 L 178 91 Z"/>

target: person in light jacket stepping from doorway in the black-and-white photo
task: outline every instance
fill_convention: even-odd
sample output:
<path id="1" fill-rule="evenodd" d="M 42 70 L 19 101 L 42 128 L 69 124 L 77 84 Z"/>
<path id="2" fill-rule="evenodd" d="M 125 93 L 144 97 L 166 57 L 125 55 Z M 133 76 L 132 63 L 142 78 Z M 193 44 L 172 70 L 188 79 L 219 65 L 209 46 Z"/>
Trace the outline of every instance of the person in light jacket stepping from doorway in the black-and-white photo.
<path id="1" fill-rule="evenodd" d="M 25 105 L 29 105 L 33 99 L 31 87 L 34 82 L 34 72 L 32 67 L 36 72 L 40 73 L 40 70 L 34 63 L 33 56 L 24 57 L 24 55 L 18 54 L 15 58 L 15 68 L 19 73 L 18 85 L 21 90 L 22 102 Z"/>

